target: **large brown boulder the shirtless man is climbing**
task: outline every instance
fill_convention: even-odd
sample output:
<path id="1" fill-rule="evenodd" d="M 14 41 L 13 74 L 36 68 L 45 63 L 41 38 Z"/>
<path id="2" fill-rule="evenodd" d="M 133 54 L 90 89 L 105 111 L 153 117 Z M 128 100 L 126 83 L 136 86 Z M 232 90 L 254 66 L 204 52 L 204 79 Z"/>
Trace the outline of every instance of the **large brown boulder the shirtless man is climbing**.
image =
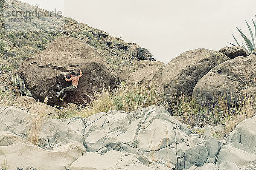
<path id="1" fill-rule="evenodd" d="M 58 37 L 42 54 L 26 59 L 18 74 L 35 99 L 43 101 L 48 96 L 49 104 L 61 105 L 55 95 L 71 85 L 62 74 L 74 71 L 78 75 L 78 67 L 84 75 L 79 80 L 77 91 L 67 97 L 67 102 L 87 101 L 87 95 L 93 95 L 93 91 L 103 86 L 113 88 L 119 82 L 101 54 L 84 41 L 72 37 Z"/>

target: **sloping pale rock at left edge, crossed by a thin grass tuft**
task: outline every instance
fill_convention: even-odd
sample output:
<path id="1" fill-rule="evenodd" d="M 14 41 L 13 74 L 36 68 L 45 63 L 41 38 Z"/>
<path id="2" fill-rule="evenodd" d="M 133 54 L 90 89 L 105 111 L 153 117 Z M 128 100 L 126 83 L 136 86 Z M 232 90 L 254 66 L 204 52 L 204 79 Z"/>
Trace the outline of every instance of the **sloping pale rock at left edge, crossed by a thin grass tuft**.
<path id="1" fill-rule="evenodd" d="M 32 127 L 31 119 L 35 119 L 35 115 L 29 114 L 18 108 L 0 106 L 0 130 L 9 131 L 21 136 L 25 139 L 29 127 Z M 83 136 L 74 132 L 64 123 L 46 117 L 42 117 L 41 135 L 39 146 L 48 144 L 67 144 L 70 142 L 80 142 L 84 144 Z"/>

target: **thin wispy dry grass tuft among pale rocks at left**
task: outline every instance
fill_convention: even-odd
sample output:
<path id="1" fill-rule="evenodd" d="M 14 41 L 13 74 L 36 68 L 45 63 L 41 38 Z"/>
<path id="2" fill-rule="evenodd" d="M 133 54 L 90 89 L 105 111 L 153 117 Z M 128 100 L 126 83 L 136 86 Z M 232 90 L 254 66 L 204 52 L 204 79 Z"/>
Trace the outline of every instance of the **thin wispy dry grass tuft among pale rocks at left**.
<path id="1" fill-rule="evenodd" d="M 28 116 L 27 121 L 29 125 L 28 129 L 28 140 L 32 144 L 38 145 L 42 124 L 44 121 L 44 116 L 46 115 L 46 105 L 48 98 L 45 98 L 44 105 L 38 106 L 38 110 L 34 115 Z"/>

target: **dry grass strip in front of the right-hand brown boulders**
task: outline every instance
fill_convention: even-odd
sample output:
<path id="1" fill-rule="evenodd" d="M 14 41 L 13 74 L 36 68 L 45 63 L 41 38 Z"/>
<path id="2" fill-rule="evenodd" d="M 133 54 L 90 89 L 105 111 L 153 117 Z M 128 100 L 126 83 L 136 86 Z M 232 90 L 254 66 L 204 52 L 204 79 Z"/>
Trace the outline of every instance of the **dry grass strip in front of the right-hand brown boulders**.
<path id="1" fill-rule="evenodd" d="M 215 104 L 195 102 L 185 95 L 173 96 L 172 112 L 183 116 L 184 123 L 192 127 L 201 125 L 225 126 L 224 136 L 227 136 L 241 121 L 256 115 L 256 88 L 247 87 L 246 91 L 216 96 Z"/>

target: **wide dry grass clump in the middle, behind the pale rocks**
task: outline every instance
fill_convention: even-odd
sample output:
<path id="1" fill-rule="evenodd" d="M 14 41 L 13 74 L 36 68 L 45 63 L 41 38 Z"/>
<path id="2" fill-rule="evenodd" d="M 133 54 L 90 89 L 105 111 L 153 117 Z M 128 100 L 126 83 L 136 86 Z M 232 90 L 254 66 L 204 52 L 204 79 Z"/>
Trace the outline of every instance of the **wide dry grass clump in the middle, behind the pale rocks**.
<path id="1" fill-rule="evenodd" d="M 115 90 L 102 88 L 101 91 L 95 92 L 94 96 L 91 97 L 91 102 L 87 105 L 81 105 L 79 111 L 74 110 L 73 116 L 88 117 L 109 110 L 131 112 L 140 107 L 151 105 L 165 106 L 167 103 L 165 101 L 163 91 L 159 89 L 157 83 L 122 82 Z"/>

